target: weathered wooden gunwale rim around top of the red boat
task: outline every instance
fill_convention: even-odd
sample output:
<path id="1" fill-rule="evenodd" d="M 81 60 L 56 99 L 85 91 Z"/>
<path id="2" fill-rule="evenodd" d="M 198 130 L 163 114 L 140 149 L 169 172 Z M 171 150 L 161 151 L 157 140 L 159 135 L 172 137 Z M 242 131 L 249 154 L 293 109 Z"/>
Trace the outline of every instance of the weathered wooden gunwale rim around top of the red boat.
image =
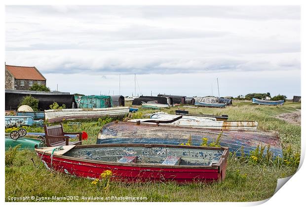
<path id="1" fill-rule="evenodd" d="M 139 147 L 170 147 L 170 148 L 187 148 L 187 149 L 207 149 L 207 150 L 223 150 L 223 153 L 218 161 L 217 164 L 213 164 L 211 166 L 187 166 L 187 165 L 180 165 L 180 166 L 168 166 L 168 165 L 161 165 L 161 164 L 137 164 L 137 163 L 117 163 L 117 162 L 108 162 L 108 161 L 99 161 L 99 160 L 89 160 L 89 159 L 84 159 L 84 158 L 76 158 L 76 157 L 70 157 L 66 156 L 65 152 L 63 155 L 57 155 L 53 154 L 53 160 L 54 157 L 61 158 L 61 159 L 66 159 L 66 160 L 72 160 L 72 161 L 80 161 L 84 163 L 94 163 L 94 164 L 104 164 L 104 165 L 115 165 L 115 166 L 126 166 L 126 167 L 144 167 L 144 168 L 176 168 L 176 169 L 207 169 L 207 170 L 218 170 L 220 172 L 220 166 L 224 163 L 227 162 L 227 158 L 229 155 L 229 147 L 208 147 L 208 146 L 186 146 L 186 145 L 170 145 L 170 144 L 88 144 L 88 145 L 76 145 L 72 149 L 77 149 L 77 148 L 94 148 L 94 147 L 110 147 L 110 146 L 139 146 Z M 51 152 L 42 152 L 39 149 L 43 148 L 36 148 L 35 151 L 38 154 L 41 154 L 41 156 L 38 155 L 39 158 L 41 158 L 43 155 L 48 155 L 50 156 L 52 153 Z M 39 150 L 39 151 L 38 151 Z M 60 161 L 62 162 L 62 161 Z M 79 164 L 78 164 L 79 165 Z M 81 164 L 84 166 L 84 164 Z"/>

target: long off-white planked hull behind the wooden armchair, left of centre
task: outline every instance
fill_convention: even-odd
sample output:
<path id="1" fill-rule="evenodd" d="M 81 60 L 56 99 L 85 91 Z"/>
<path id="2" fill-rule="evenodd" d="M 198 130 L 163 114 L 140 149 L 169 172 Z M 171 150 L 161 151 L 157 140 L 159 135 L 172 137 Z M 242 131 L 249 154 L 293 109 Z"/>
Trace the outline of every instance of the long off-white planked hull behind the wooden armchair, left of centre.
<path id="1" fill-rule="evenodd" d="M 45 110 L 45 119 L 48 122 L 59 122 L 65 120 L 100 118 L 104 116 L 120 117 L 129 112 L 129 107 L 111 108 L 69 108 Z"/>

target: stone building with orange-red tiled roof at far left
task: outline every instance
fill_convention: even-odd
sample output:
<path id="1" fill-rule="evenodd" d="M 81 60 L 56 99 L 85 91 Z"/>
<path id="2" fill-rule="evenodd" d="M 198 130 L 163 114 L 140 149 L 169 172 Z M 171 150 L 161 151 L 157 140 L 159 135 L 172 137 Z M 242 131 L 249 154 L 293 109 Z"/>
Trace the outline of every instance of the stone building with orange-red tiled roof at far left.
<path id="1" fill-rule="evenodd" d="M 46 78 L 37 68 L 5 65 L 5 89 L 29 90 L 35 83 L 46 85 Z"/>

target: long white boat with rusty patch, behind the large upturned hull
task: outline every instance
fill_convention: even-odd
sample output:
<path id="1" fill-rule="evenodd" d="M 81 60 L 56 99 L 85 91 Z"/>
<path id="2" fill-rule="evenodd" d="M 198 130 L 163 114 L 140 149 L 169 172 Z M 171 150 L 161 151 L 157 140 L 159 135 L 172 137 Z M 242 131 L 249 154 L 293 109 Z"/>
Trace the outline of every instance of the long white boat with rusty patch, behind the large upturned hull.
<path id="1" fill-rule="evenodd" d="M 169 121 L 178 118 L 179 115 L 153 113 L 150 119 L 131 119 L 128 122 L 148 122 L 148 121 Z M 214 120 L 213 120 L 214 119 Z M 154 123 L 153 123 L 154 124 Z M 160 123 L 161 125 L 177 125 L 185 127 L 205 128 L 205 129 L 228 129 L 228 130 L 256 130 L 256 121 L 216 121 L 213 117 L 182 116 L 171 123 Z"/>

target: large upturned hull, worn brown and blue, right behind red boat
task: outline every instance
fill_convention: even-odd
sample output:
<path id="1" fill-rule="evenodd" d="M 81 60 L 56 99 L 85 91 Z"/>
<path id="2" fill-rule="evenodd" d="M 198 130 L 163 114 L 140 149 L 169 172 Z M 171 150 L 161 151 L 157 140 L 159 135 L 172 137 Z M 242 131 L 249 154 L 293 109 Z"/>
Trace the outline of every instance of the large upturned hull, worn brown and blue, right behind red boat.
<path id="1" fill-rule="evenodd" d="M 202 144 L 202 138 L 208 138 L 208 144 L 216 141 L 220 130 L 168 125 L 154 125 L 132 122 L 112 122 L 105 125 L 98 134 L 97 144 L 103 143 L 159 143 L 174 144 L 187 143 L 191 137 L 192 145 Z M 241 155 L 241 146 L 244 153 L 249 154 L 258 145 L 270 146 L 273 156 L 282 157 L 282 148 L 279 135 L 273 131 L 260 130 L 223 130 L 221 146 L 229 147 L 229 151 Z"/>

